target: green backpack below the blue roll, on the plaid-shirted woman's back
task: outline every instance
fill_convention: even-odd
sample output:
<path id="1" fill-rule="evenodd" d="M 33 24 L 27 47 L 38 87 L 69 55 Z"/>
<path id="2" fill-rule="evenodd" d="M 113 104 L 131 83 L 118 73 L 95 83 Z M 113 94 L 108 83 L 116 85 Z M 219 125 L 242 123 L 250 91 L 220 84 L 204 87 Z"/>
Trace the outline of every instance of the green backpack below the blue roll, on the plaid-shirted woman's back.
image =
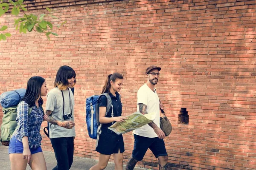
<path id="1" fill-rule="evenodd" d="M 29 108 L 28 115 L 31 113 L 31 111 L 32 111 L 32 108 Z M 9 146 L 12 133 L 14 133 L 15 128 L 17 127 L 16 117 L 17 117 L 17 106 L 3 108 L 3 121 L 1 125 L 0 141 L 5 146 Z"/>

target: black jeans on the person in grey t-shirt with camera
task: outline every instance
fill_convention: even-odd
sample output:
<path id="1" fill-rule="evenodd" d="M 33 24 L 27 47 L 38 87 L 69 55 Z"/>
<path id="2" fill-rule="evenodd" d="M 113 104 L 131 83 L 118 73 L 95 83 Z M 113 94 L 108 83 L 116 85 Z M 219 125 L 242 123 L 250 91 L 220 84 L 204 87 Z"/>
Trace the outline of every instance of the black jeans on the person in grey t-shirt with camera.
<path id="1" fill-rule="evenodd" d="M 52 170 L 69 170 L 73 163 L 74 137 L 50 139 L 57 160 Z"/>

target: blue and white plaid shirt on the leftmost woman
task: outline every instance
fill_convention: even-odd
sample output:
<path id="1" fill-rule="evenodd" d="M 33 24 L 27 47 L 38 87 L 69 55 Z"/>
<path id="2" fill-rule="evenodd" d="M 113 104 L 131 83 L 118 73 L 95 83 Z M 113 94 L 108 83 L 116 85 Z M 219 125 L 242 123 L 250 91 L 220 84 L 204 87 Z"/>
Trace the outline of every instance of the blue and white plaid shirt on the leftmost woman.
<path id="1" fill-rule="evenodd" d="M 37 148 L 41 145 L 42 136 L 40 134 L 41 124 L 43 122 L 44 111 L 42 107 L 37 108 L 32 106 L 32 111 L 29 114 L 29 105 L 22 101 L 17 105 L 17 124 L 19 128 L 15 136 L 18 141 L 22 142 L 23 136 L 28 136 L 29 147 Z"/>

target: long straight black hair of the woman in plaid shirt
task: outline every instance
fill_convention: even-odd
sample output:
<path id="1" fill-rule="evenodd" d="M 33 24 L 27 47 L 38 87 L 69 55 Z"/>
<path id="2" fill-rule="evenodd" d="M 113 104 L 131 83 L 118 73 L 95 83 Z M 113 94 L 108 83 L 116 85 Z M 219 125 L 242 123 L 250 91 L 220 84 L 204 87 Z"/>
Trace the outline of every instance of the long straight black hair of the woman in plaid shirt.
<path id="1" fill-rule="evenodd" d="M 40 97 L 38 104 L 43 105 L 44 101 L 41 98 L 41 87 L 45 79 L 40 76 L 31 77 L 28 81 L 26 93 L 21 99 L 21 101 L 25 101 L 28 103 L 29 107 L 35 105 L 36 100 Z"/>

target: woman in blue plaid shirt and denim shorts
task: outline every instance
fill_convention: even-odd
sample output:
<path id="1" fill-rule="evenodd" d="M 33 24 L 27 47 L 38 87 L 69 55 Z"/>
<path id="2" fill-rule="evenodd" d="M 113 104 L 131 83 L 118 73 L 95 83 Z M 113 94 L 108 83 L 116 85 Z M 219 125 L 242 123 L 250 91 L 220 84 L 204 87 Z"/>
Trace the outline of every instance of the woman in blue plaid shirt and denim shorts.
<path id="1" fill-rule="evenodd" d="M 9 144 L 11 170 L 26 170 L 27 163 L 32 170 L 47 169 L 40 134 L 41 124 L 47 119 L 42 108 L 44 101 L 41 96 L 46 96 L 47 90 L 43 77 L 31 77 L 27 83 L 26 93 L 17 105 L 18 128 Z"/>

